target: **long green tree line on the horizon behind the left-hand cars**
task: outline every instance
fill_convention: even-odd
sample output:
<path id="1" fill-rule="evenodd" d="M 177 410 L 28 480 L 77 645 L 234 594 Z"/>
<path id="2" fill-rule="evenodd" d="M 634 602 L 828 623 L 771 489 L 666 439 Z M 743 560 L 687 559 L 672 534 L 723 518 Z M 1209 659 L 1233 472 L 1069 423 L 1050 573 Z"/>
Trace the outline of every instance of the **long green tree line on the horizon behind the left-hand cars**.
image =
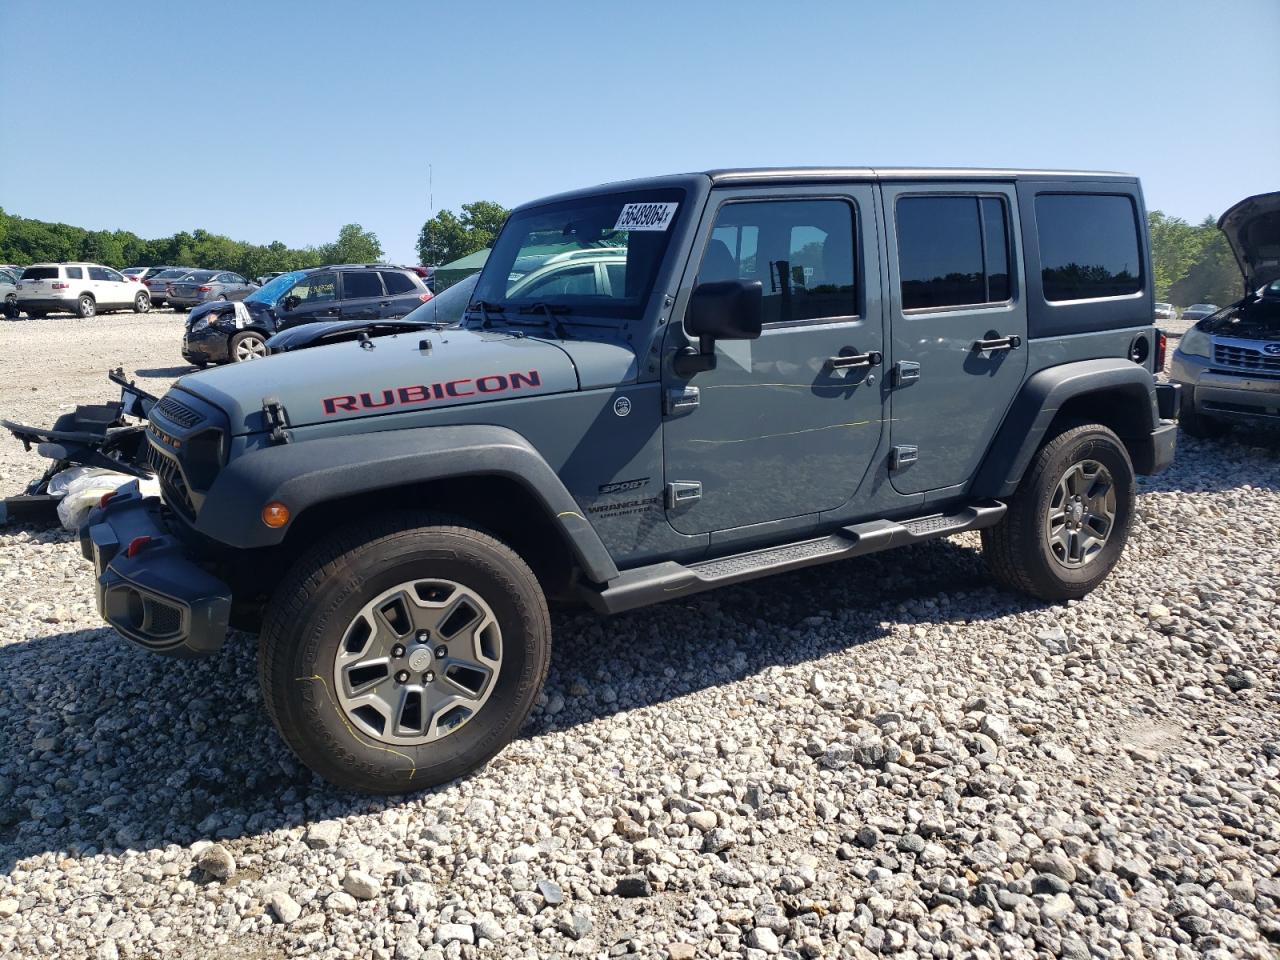
<path id="1" fill-rule="evenodd" d="M 325 264 L 367 264 L 383 259 L 378 234 L 360 224 L 344 225 L 333 243 L 287 247 L 246 243 L 209 230 L 143 239 L 129 230 L 86 230 L 64 223 L 14 216 L 0 209 L 0 264 L 83 260 L 106 266 L 201 266 L 261 276 Z"/>

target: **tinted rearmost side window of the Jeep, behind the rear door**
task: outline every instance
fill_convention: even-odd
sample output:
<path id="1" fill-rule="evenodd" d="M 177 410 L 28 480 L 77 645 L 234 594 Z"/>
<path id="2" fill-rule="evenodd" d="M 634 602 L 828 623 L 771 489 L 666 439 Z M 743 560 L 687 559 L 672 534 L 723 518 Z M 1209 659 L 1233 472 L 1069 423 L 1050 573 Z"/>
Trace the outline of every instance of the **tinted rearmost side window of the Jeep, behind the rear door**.
<path id="1" fill-rule="evenodd" d="M 1036 197 L 1044 300 L 1119 297 L 1142 289 L 1133 201 L 1100 193 Z"/>

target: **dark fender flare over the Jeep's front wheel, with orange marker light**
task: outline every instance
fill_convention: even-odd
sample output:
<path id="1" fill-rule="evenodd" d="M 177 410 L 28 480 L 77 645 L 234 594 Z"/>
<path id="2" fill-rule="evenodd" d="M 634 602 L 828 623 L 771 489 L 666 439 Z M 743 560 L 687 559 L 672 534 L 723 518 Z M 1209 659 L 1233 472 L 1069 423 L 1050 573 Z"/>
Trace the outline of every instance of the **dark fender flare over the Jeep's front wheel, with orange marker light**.
<path id="1" fill-rule="evenodd" d="M 326 500 L 460 476 L 520 484 L 541 504 L 588 579 L 603 584 L 618 576 L 556 471 L 524 436 L 503 426 L 424 426 L 265 447 L 218 475 L 195 527 L 229 547 L 271 547 L 288 529 L 262 524 L 262 506 L 273 500 L 298 517 Z"/>

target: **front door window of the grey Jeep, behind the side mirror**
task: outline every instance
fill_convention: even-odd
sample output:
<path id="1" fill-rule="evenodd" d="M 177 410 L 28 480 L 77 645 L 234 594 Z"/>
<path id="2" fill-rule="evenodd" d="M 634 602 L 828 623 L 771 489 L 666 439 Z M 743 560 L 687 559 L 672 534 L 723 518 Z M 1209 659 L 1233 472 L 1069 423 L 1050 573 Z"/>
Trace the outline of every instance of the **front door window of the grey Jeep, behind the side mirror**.
<path id="1" fill-rule="evenodd" d="M 765 323 L 855 316 L 854 250 L 854 209 L 842 200 L 726 204 L 698 280 L 759 280 Z"/>

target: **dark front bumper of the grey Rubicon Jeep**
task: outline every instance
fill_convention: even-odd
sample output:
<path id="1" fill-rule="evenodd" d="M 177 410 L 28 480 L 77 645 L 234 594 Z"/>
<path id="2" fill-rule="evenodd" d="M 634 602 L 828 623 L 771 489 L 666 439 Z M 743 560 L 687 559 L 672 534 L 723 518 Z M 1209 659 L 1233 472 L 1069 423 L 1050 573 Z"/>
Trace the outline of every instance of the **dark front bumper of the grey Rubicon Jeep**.
<path id="1" fill-rule="evenodd" d="M 204 657 L 221 648 L 230 588 L 189 557 L 165 526 L 159 498 L 127 484 L 90 512 L 79 540 L 97 575 L 99 613 L 122 636 L 166 657 Z M 131 557 L 134 543 L 142 545 Z"/>

